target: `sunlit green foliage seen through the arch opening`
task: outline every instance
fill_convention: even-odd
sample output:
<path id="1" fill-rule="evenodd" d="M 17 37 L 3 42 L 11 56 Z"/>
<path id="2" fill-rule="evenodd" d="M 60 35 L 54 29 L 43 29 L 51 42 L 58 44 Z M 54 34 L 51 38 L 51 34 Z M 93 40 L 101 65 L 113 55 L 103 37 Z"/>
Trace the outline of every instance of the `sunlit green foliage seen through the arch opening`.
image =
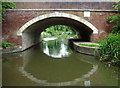
<path id="1" fill-rule="evenodd" d="M 70 35 L 67 34 L 68 32 L 70 33 Z M 63 26 L 63 25 L 51 26 L 45 29 L 41 33 L 42 38 L 56 36 L 56 35 L 65 35 L 66 38 L 70 38 L 70 37 L 77 38 L 76 32 L 74 30 L 72 30 L 68 26 Z"/>

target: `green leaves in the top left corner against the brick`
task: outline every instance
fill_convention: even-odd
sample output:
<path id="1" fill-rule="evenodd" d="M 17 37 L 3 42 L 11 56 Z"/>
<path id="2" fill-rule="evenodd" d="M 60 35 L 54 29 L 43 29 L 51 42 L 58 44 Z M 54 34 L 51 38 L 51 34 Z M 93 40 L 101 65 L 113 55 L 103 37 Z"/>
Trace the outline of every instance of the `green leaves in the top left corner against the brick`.
<path id="1" fill-rule="evenodd" d="M 16 5 L 14 2 L 2 2 L 2 15 L 5 16 L 6 9 L 14 9 L 16 8 Z M 2 18 L 2 20 L 4 20 Z"/>

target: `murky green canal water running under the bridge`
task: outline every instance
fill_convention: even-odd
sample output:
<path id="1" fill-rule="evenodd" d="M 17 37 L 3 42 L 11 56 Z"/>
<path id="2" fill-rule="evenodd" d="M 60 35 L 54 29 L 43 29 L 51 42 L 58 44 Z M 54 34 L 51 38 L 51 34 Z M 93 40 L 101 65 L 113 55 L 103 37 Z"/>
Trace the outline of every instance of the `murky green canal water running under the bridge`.
<path id="1" fill-rule="evenodd" d="M 3 86 L 118 86 L 117 67 L 71 50 L 62 37 L 3 54 L 2 77 Z"/>

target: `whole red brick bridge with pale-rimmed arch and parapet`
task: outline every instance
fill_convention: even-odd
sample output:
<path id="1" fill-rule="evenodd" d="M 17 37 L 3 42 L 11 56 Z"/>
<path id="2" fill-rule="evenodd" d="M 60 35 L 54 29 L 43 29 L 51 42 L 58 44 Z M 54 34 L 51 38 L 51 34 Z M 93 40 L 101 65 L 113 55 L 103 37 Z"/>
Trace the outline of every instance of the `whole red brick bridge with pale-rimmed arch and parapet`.
<path id="1" fill-rule="evenodd" d="M 106 18 L 115 2 L 16 2 L 2 23 L 2 40 L 22 50 L 40 42 L 41 32 L 52 25 L 70 26 L 82 41 L 101 40 L 111 32 Z M 87 14 L 86 14 L 87 13 Z"/>

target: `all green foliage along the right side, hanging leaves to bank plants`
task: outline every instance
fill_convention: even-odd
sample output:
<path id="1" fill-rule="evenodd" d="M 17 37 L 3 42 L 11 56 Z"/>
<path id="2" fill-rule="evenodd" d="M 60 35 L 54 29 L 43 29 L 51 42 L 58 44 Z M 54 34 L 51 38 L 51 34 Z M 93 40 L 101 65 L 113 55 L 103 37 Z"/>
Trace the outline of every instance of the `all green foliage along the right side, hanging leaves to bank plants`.
<path id="1" fill-rule="evenodd" d="M 105 40 L 98 41 L 101 44 L 99 54 L 102 61 L 120 66 L 120 0 L 113 7 L 118 13 L 107 18 L 108 23 L 112 25 L 113 31 Z"/>

